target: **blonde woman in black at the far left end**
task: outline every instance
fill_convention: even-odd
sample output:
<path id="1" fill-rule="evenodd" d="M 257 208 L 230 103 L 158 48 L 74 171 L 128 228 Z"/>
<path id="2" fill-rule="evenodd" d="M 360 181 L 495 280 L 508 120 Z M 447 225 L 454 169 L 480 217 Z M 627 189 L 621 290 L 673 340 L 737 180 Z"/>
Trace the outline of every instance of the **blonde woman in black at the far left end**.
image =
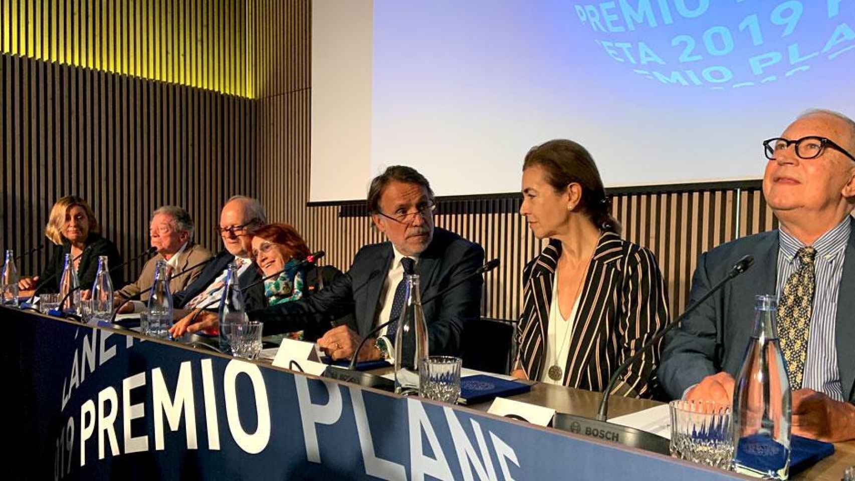
<path id="1" fill-rule="evenodd" d="M 44 227 L 44 237 L 56 243 L 50 255 L 50 260 L 41 274 L 35 277 L 25 277 L 18 283 L 21 290 L 34 289 L 39 279 L 44 279 L 42 292 L 56 292 L 59 289 L 59 278 L 65 267 L 65 255 L 70 254 L 76 259 L 74 268 L 80 285 L 88 289 L 95 282 L 98 269 L 98 257 L 106 255 L 109 267 L 121 264 L 121 255 L 115 244 L 101 237 L 101 226 L 95 219 L 95 213 L 85 200 L 76 196 L 62 197 L 53 208 L 50 208 L 48 224 Z M 111 269 L 110 279 L 114 286 L 123 282 L 121 269 Z"/>

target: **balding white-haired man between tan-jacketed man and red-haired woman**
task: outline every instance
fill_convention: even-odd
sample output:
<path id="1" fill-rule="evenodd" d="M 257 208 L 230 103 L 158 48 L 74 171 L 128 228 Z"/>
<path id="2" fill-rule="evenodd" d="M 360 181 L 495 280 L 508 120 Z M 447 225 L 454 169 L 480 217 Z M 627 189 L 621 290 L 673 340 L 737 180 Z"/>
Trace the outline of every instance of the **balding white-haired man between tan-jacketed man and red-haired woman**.
<path id="1" fill-rule="evenodd" d="M 173 294 L 174 308 L 217 308 L 216 301 L 222 296 L 227 267 L 233 261 L 238 266 L 238 284 L 242 288 L 261 279 L 258 270 L 252 267 L 251 246 L 247 234 L 265 224 L 267 215 L 256 199 L 244 196 L 230 198 L 222 206 L 220 224 L 216 227 L 226 250 L 217 254 L 185 290 Z M 244 301 L 247 310 L 267 307 L 263 284 L 246 290 Z M 186 311 L 176 313 L 175 318 L 178 319 L 183 314 L 186 314 Z"/>

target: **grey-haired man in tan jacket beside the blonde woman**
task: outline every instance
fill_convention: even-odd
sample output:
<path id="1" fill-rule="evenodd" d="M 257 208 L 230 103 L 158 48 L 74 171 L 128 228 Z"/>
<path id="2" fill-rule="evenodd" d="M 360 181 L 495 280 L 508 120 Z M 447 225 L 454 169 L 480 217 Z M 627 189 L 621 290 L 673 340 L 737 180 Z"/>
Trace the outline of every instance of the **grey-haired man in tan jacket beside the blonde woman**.
<path id="1" fill-rule="evenodd" d="M 151 246 L 157 249 L 157 255 L 145 263 L 139 279 L 116 292 L 115 304 L 121 304 L 120 313 L 142 312 L 149 298 L 148 290 L 155 280 L 155 266 L 158 261 L 166 261 L 172 267 L 173 273 L 180 273 L 187 267 L 195 266 L 211 257 L 208 249 L 193 242 L 193 219 L 180 207 L 166 205 L 151 215 L 149 239 Z M 202 267 L 170 279 L 169 291 L 184 290 L 200 273 Z M 128 297 L 137 295 L 139 301 L 124 302 Z"/>

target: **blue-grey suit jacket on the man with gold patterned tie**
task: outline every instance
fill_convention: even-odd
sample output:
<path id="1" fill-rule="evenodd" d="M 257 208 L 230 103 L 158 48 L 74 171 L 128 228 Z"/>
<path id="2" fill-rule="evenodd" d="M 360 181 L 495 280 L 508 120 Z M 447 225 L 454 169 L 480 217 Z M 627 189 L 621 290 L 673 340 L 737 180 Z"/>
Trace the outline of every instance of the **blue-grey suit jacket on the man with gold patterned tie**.
<path id="1" fill-rule="evenodd" d="M 722 244 L 700 255 L 692 279 L 689 304 L 723 279 L 743 255 L 754 256 L 754 265 L 707 299 L 681 326 L 669 334 L 658 377 L 669 396 L 701 379 L 726 371 L 739 375 L 754 320 L 754 296 L 775 295 L 778 269 L 778 231 L 763 232 Z M 834 328 L 837 363 L 843 398 L 855 402 L 855 235 L 849 236 L 837 298 Z"/>

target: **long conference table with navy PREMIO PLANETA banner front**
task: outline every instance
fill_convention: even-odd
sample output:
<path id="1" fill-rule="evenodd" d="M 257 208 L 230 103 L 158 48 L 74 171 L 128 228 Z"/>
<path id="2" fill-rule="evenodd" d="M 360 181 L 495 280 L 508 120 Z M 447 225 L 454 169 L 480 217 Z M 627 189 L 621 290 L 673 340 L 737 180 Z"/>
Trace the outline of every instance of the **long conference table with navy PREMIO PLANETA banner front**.
<path id="1" fill-rule="evenodd" d="M 740 479 L 416 396 L 236 360 L 112 326 L 0 308 L 18 478 Z M 511 399 L 593 417 L 600 395 L 534 383 Z M 660 405 L 614 397 L 610 416 Z M 855 442 L 792 479 L 838 481 Z M 746 478 L 747 479 L 747 478 Z"/>

